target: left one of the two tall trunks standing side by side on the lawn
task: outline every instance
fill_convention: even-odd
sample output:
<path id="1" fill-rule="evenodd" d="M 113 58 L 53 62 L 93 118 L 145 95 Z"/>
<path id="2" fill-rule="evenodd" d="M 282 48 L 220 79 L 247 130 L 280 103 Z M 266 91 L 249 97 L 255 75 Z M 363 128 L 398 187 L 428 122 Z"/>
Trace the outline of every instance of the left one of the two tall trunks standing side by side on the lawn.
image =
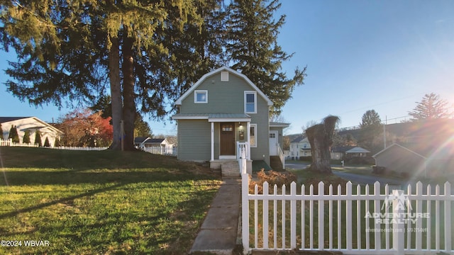
<path id="1" fill-rule="evenodd" d="M 114 128 L 114 140 L 111 149 L 121 149 L 121 120 L 123 119 L 123 101 L 121 100 L 120 79 L 120 49 L 118 38 L 111 38 L 112 46 L 109 52 L 109 80 L 111 83 L 112 97 L 112 125 Z"/>

